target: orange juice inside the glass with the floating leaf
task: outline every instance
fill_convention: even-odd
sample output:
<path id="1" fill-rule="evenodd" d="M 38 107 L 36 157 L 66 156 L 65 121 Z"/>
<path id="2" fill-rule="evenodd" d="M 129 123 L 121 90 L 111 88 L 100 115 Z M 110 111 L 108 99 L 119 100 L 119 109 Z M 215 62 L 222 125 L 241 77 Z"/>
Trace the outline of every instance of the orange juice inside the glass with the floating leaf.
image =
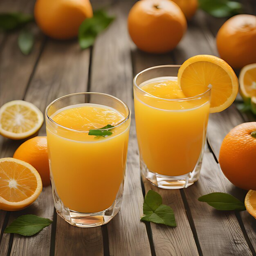
<path id="1" fill-rule="evenodd" d="M 47 125 L 51 180 L 65 207 L 81 213 L 108 209 L 123 186 L 130 120 L 103 105 L 82 103 L 62 108 Z M 112 135 L 90 129 L 115 126 Z"/>

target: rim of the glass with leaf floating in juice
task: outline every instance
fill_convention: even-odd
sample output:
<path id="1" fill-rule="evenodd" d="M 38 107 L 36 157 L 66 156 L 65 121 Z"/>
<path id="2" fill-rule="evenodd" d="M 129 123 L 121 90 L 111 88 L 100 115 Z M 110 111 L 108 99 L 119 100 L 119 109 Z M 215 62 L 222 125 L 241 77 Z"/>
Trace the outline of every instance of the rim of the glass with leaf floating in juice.
<path id="1" fill-rule="evenodd" d="M 49 117 L 48 115 L 48 111 L 49 111 L 49 108 L 54 104 L 56 103 L 57 101 L 60 101 L 61 99 L 65 99 L 67 97 L 70 97 L 70 96 L 74 96 L 74 95 L 90 95 L 90 94 L 97 94 L 97 95 L 101 95 L 101 96 L 107 96 L 107 97 L 110 97 L 112 99 L 115 99 L 117 101 L 119 101 L 127 110 L 128 110 L 128 115 L 124 118 L 124 120 L 120 121 L 118 124 L 116 124 L 114 127 L 112 128 L 106 128 L 106 129 L 102 129 L 103 131 L 104 130 L 111 130 L 111 129 L 114 129 L 118 126 L 121 126 L 122 124 L 124 124 L 130 117 L 130 109 L 128 108 L 128 106 L 126 105 L 126 103 L 124 103 L 124 101 L 121 101 L 121 99 L 118 99 L 117 97 L 115 96 L 112 96 L 110 94 L 106 94 L 106 93 L 101 93 L 101 92 L 76 92 L 76 93 L 71 93 L 71 94 L 67 94 L 65 96 L 62 96 L 58 99 L 55 99 L 54 101 L 52 101 L 51 103 L 49 103 L 49 105 L 46 107 L 45 109 L 45 115 L 47 117 L 47 119 L 49 119 L 49 121 L 51 121 L 52 123 L 56 124 L 57 126 L 60 126 L 61 128 L 64 128 L 65 130 L 70 130 L 72 132 L 81 132 L 81 133 L 89 133 L 90 131 L 84 131 L 84 130 L 76 130 L 76 129 L 72 129 L 72 128 L 68 128 L 66 126 L 63 126 L 61 124 L 58 124 L 57 122 L 55 122 L 51 117 Z M 72 105 L 70 105 L 72 106 Z"/>

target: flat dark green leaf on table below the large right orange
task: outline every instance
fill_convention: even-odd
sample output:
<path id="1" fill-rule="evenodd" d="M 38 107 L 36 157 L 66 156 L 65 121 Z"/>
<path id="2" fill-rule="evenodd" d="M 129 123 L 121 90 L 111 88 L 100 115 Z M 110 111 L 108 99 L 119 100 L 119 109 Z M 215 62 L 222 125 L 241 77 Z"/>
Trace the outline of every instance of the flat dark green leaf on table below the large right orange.
<path id="1" fill-rule="evenodd" d="M 210 206 L 221 211 L 245 211 L 245 204 L 239 199 L 235 198 L 233 195 L 227 193 L 210 193 L 207 195 L 202 195 L 198 198 L 200 202 L 206 202 Z"/>

